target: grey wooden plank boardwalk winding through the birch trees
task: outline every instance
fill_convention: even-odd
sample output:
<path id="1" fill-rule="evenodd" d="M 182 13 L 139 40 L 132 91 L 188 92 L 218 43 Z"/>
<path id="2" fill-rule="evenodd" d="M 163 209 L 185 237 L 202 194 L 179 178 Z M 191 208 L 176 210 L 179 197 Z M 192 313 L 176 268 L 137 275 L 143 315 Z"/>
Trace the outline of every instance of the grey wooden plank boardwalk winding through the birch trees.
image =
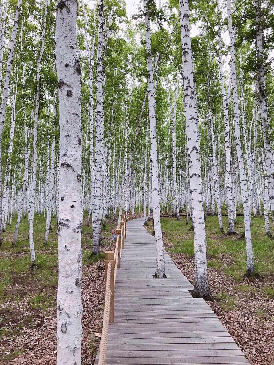
<path id="1" fill-rule="evenodd" d="M 208 304 L 190 295 L 192 285 L 166 252 L 167 279 L 153 278 L 155 238 L 143 223 L 127 223 L 106 364 L 249 364 Z"/>

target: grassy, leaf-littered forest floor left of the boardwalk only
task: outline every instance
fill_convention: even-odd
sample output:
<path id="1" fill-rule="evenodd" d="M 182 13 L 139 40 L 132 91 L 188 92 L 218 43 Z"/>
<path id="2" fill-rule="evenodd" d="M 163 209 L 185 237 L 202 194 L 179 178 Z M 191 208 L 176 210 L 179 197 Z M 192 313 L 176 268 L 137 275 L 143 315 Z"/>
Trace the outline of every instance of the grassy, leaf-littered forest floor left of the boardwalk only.
<path id="1" fill-rule="evenodd" d="M 43 245 L 45 219 L 35 216 L 34 244 L 38 267 L 30 268 L 27 218 L 20 223 L 17 247 L 11 248 L 16 218 L 3 233 L 0 247 L 0 364 L 56 364 L 56 294 L 58 239 L 52 218 L 49 243 Z M 104 254 L 113 249 L 111 238 L 117 222 L 106 220 L 100 255 L 88 259 L 92 228 L 82 228 L 82 364 L 94 363 L 99 346 L 104 308 Z"/>

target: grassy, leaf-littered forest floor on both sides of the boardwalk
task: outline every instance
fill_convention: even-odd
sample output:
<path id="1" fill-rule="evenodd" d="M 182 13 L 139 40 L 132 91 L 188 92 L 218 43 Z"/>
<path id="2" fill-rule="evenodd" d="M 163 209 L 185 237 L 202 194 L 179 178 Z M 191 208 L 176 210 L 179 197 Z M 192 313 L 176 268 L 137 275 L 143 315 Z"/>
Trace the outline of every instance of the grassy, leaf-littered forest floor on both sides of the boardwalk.
<path id="1" fill-rule="evenodd" d="M 34 242 L 38 267 L 30 269 L 27 219 L 20 224 L 18 243 L 11 248 L 16 219 L 3 234 L 0 247 L 0 364 L 52 365 L 56 363 L 56 293 L 58 283 L 58 241 L 56 219 L 52 219 L 49 243 L 43 246 L 45 219 L 36 216 Z M 264 219 L 252 219 L 255 267 L 260 277 L 244 278 L 245 242 L 218 230 L 218 218 L 206 220 L 208 275 L 216 301 L 213 311 L 243 350 L 252 365 L 269 365 L 274 339 L 274 241 L 265 235 Z M 91 227 L 82 228 L 84 307 L 82 364 L 94 362 L 102 328 L 104 305 L 103 252 L 113 249 L 116 223 L 107 219 L 101 254 L 88 260 Z M 193 232 L 174 218 L 161 219 L 164 245 L 175 264 L 193 283 Z M 223 217 L 224 231 L 227 217 Z M 146 226 L 152 231 L 151 222 Z M 237 217 L 236 231 L 243 231 L 243 217 Z M 274 231 L 273 231 L 274 234 Z"/>

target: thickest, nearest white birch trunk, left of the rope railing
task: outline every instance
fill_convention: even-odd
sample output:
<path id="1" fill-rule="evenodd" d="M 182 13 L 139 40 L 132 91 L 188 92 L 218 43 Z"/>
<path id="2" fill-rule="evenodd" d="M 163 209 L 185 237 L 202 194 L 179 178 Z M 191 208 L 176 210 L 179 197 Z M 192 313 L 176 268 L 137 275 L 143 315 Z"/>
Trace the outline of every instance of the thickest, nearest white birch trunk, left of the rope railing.
<path id="1" fill-rule="evenodd" d="M 57 365 L 81 365 L 81 81 L 76 54 L 77 1 L 56 7 L 59 96 Z"/>

